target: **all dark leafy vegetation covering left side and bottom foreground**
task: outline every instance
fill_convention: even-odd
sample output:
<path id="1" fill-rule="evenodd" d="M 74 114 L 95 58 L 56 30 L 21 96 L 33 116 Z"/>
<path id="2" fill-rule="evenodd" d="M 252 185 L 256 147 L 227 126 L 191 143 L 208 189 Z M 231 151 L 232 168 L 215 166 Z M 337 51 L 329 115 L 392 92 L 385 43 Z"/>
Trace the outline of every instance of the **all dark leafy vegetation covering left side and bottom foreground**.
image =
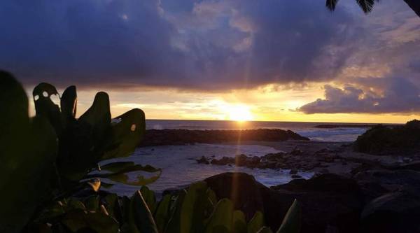
<path id="1" fill-rule="evenodd" d="M 0 232 L 272 232 L 264 227 L 263 212 L 245 215 L 206 182 L 157 202 L 144 185 L 156 181 L 161 169 L 133 162 L 100 167 L 99 162 L 127 157 L 139 145 L 146 131 L 143 111 L 111 120 L 108 94 L 98 92 L 76 119 L 76 87 L 64 91 L 61 108 L 50 99 L 53 94 L 59 95 L 54 86 L 37 85 L 36 116 L 29 118 L 22 85 L 0 71 Z M 132 181 L 132 171 L 153 176 Z M 112 184 L 99 178 L 142 187 L 131 198 L 118 197 L 101 190 Z M 289 205 L 276 218 L 276 232 L 300 232 L 300 203 Z"/>

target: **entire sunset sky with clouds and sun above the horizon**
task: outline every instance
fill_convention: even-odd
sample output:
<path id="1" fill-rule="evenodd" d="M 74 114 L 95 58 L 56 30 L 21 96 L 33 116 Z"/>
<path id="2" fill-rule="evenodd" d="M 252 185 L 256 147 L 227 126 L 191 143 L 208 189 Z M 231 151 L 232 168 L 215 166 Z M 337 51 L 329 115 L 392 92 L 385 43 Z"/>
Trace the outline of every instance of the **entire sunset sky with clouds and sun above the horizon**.
<path id="1" fill-rule="evenodd" d="M 0 29 L 0 69 L 29 97 L 76 85 L 78 115 L 106 91 L 113 116 L 420 118 L 420 17 L 402 0 L 5 0 Z"/>

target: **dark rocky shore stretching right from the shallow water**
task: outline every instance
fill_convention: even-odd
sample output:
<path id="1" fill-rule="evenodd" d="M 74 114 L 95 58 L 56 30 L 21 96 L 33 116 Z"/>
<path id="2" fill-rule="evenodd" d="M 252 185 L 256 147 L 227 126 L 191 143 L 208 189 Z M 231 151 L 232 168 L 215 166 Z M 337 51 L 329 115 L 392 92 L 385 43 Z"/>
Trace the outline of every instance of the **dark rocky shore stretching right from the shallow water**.
<path id="1" fill-rule="evenodd" d="M 353 142 L 334 141 L 241 141 L 242 145 L 269 146 L 283 151 L 286 155 L 278 155 L 269 162 L 283 164 L 274 169 L 290 169 L 293 171 L 313 172 L 314 174 L 338 174 L 351 177 L 358 171 L 367 169 L 404 169 L 405 167 L 420 168 L 420 155 L 370 155 L 353 151 Z M 237 143 L 223 143 L 237 145 Z M 285 159 L 286 157 L 286 159 Z M 251 159 L 251 157 L 249 157 Z M 211 162 L 211 160 L 209 160 Z M 218 163 L 217 161 L 215 162 Z M 219 164 L 235 166 L 232 160 Z M 417 165 L 419 164 L 419 165 Z M 283 166 L 282 166 L 283 165 Z M 255 165 L 252 165 L 255 166 Z M 258 164 L 260 167 L 267 164 Z M 286 166 L 286 167 L 284 167 Z M 258 168 L 257 168 L 258 169 Z"/>

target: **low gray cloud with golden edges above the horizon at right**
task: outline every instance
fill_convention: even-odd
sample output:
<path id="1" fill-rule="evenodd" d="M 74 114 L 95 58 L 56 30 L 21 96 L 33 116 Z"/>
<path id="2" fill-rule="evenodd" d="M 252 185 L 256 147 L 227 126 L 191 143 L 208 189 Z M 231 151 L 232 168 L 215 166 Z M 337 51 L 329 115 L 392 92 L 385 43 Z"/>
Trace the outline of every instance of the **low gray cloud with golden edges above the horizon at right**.
<path id="1" fill-rule="evenodd" d="M 381 92 L 325 85 L 325 99 L 298 108 L 304 113 L 420 113 L 420 89 L 405 78 L 386 78 Z"/>

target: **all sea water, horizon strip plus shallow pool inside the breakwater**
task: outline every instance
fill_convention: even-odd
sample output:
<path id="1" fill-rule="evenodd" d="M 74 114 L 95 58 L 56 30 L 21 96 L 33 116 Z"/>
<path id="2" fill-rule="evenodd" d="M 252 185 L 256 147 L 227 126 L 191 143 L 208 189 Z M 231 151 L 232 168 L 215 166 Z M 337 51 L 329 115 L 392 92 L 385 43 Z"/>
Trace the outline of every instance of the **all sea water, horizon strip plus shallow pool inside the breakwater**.
<path id="1" fill-rule="evenodd" d="M 355 124 L 354 127 L 316 128 L 316 125 L 340 125 L 339 123 L 316 122 L 232 122 L 218 120 L 146 120 L 147 129 L 290 129 L 312 141 L 354 141 L 363 134 L 366 128 Z M 346 124 L 347 125 L 347 124 Z M 262 156 L 267 153 L 278 153 L 269 146 L 260 145 L 222 145 L 222 144 L 195 144 L 186 146 L 150 146 L 137 148 L 130 157 L 120 158 L 116 161 L 132 161 L 136 164 L 150 164 L 162 168 L 162 175 L 155 183 L 148 185 L 155 190 L 158 197 L 167 189 L 179 189 L 190 183 L 202 181 L 204 178 L 228 171 L 241 171 L 252 174 L 260 183 L 271 186 L 288 183 L 292 180 L 289 170 L 248 169 L 245 167 L 230 167 L 218 165 L 198 164 L 195 160 L 202 156 L 220 158 L 223 156 L 235 157 L 245 154 Z M 107 161 L 109 162 L 109 161 Z M 103 162 L 102 164 L 105 164 Z M 299 171 L 302 178 L 310 178 L 314 174 Z M 132 172 L 130 179 L 139 175 L 150 176 L 141 172 Z M 112 181 L 107 181 L 113 183 Z M 111 190 L 119 195 L 132 195 L 139 187 L 121 185 L 116 183 Z"/>

